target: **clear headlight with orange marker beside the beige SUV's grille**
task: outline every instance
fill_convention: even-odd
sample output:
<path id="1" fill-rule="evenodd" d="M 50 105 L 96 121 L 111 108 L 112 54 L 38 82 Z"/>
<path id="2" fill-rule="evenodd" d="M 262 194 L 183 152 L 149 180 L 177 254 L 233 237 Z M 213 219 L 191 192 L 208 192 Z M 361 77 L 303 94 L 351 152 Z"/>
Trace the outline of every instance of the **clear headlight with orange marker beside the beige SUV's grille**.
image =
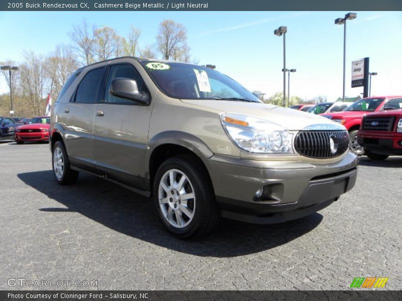
<path id="1" fill-rule="evenodd" d="M 293 153 L 292 134 L 276 123 L 237 114 L 222 114 L 221 122 L 229 137 L 247 152 Z"/>

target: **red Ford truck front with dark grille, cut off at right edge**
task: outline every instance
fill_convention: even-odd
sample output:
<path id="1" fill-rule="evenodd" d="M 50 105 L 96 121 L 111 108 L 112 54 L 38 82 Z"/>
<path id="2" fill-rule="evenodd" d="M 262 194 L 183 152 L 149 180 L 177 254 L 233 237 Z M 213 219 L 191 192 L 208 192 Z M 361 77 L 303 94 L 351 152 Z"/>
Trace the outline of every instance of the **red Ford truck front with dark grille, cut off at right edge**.
<path id="1" fill-rule="evenodd" d="M 402 108 L 402 99 L 399 107 Z M 362 120 L 357 141 L 372 160 L 402 156 L 402 109 L 367 115 Z"/>

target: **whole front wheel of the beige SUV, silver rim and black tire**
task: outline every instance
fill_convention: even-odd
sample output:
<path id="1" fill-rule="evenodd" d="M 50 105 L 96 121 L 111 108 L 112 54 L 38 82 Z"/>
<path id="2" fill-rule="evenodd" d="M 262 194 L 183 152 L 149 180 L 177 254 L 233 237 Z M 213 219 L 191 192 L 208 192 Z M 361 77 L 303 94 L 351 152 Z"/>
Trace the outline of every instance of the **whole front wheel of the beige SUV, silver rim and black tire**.
<path id="1" fill-rule="evenodd" d="M 179 238 L 211 232 L 220 212 L 205 167 L 191 156 L 166 160 L 155 175 L 153 198 L 163 226 Z"/>

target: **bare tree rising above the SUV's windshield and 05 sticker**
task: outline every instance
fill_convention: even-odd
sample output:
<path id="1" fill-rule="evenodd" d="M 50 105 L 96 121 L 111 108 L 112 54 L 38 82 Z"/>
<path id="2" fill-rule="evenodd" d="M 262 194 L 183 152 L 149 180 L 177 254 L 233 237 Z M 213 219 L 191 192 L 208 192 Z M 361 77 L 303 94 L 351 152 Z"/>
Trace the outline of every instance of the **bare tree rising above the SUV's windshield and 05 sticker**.
<path id="1" fill-rule="evenodd" d="M 173 20 L 164 20 L 159 24 L 159 33 L 157 35 L 158 51 L 163 59 L 169 60 L 174 52 L 178 52 L 187 42 L 187 33 L 181 23 Z"/>

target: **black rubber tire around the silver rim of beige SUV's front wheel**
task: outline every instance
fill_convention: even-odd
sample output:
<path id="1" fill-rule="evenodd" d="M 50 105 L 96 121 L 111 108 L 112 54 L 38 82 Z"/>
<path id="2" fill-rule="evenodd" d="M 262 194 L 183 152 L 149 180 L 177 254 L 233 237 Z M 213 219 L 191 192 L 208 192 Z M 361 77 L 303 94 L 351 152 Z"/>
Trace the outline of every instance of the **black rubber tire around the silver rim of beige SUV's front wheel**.
<path id="1" fill-rule="evenodd" d="M 193 217 L 192 220 L 187 221 L 188 225 L 184 228 L 172 226 L 167 217 L 164 216 L 159 204 L 160 181 L 163 176 L 166 176 L 168 171 L 173 169 L 178 170 L 188 178 L 189 182 L 187 182 L 187 185 L 191 185 L 190 189 L 193 190 L 194 194 L 194 199 L 192 199 L 195 204 L 193 204 L 195 208 L 193 210 Z M 180 174 L 178 174 L 179 176 Z M 162 194 L 165 193 L 167 199 L 167 193 L 164 191 L 162 190 Z M 179 194 L 177 193 L 177 195 Z M 216 228 L 220 220 L 220 210 L 215 200 L 215 193 L 208 172 L 203 164 L 192 156 L 173 157 L 161 164 L 154 179 L 153 201 L 163 226 L 178 238 L 193 239 L 205 236 Z M 170 206 L 168 203 L 165 205 L 165 208 Z M 174 218 L 177 221 L 177 218 Z"/>

